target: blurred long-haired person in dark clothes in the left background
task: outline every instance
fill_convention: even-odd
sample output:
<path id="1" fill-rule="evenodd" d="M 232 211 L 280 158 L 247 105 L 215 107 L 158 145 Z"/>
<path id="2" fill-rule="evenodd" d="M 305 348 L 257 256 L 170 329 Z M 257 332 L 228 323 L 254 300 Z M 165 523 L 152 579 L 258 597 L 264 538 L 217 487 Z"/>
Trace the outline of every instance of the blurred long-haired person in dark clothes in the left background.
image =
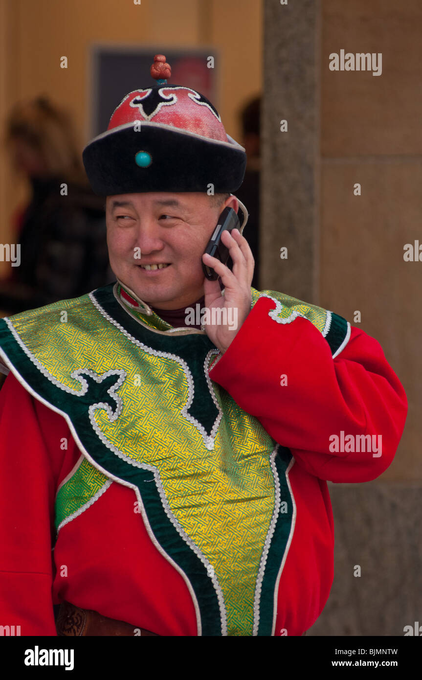
<path id="1" fill-rule="evenodd" d="M 5 145 L 31 185 L 31 200 L 15 216 L 20 265 L 0 282 L 1 311 L 78 297 L 113 281 L 104 201 L 90 189 L 69 116 L 46 97 L 18 103 L 6 120 Z"/>

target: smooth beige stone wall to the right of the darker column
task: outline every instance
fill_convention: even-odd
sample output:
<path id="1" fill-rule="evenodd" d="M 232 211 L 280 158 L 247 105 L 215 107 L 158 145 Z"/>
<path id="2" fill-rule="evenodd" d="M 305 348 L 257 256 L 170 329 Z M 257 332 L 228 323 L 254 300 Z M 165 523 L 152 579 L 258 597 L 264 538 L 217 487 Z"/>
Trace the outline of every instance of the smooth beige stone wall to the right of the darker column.
<path id="1" fill-rule="evenodd" d="M 422 63 L 419 0 L 321 3 L 319 301 L 383 347 L 409 401 L 391 481 L 422 480 Z M 330 71 L 332 52 L 381 52 L 383 71 Z M 362 196 L 353 185 L 362 185 Z"/>

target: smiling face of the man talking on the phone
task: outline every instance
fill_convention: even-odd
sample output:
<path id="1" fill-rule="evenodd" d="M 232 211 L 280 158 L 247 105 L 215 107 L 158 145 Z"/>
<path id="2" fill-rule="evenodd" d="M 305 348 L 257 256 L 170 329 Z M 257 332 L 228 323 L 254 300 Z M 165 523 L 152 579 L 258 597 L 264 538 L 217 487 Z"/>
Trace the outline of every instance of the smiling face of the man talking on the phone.
<path id="1" fill-rule="evenodd" d="M 205 193 L 140 193 L 107 197 L 107 245 L 111 269 L 152 307 L 179 309 L 204 293 L 201 256 L 221 206 Z M 140 257 L 139 257 L 140 253 Z M 144 269 L 165 264 L 164 269 Z"/>

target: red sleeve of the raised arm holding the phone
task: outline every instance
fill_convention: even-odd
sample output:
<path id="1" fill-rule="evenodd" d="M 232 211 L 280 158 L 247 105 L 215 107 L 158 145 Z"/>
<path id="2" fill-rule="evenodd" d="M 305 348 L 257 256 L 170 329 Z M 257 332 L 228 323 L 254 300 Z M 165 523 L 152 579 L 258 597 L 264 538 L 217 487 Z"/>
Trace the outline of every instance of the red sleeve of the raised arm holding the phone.
<path id="1" fill-rule="evenodd" d="M 311 475 L 334 482 L 375 479 L 393 460 L 407 413 L 404 388 L 381 346 L 352 326 L 333 359 L 309 320 L 279 324 L 268 316 L 274 308 L 272 300 L 258 300 L 209 376 Z M 340 439 L 341 431 L 344 437 L 375 435 L 381 456 L 333 453 L 330 437 Z"/>

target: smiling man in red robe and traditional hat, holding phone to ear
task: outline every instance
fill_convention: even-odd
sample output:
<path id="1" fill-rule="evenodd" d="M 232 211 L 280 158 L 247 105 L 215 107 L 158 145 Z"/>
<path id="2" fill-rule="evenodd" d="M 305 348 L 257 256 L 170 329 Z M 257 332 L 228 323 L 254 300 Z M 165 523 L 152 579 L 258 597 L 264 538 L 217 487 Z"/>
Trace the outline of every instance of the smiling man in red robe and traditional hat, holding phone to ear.
<path id="1" fill-rule="evenodd" d="M 406 396 L 362 330 L 250 287 L 245 210 L 232 271 L 203 254 L 245 154 L 156 65 L 84 150 L 116 284 L 0 322 L 0 624 L 302 635 L 332 585 L 326 480 L 387 469 Z M 221 314 L 192 326 L 197 304 Z"/>

